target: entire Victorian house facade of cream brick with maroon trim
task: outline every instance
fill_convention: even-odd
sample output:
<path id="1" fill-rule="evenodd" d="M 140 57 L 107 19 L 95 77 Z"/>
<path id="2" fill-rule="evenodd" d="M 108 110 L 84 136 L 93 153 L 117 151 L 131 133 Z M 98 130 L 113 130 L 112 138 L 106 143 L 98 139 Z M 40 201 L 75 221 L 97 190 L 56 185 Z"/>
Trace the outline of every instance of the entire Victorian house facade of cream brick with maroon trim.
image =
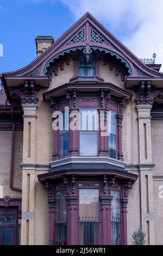
<path id="1" fill-rule="evenodd" d="M 86 13 L 37 58 L 1 74 L 0 244 L 163 244 L 163 74 Z M 65 108 L 68 111 L 65 114 Z M 109 115 L 53 129 L 59 114 Z M 65 115 L 68 115 L 67 119 Z"/>

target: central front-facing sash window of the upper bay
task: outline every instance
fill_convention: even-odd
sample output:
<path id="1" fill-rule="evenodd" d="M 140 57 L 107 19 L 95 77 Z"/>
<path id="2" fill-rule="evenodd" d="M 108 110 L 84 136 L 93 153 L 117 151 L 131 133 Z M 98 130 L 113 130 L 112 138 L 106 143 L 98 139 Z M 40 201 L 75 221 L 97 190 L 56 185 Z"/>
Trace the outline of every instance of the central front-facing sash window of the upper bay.
<path id="1" fill-rule="evenodd" d="M 96 109 L 80 109 L 80 156 L 97 156 L 97 122 Z"/>

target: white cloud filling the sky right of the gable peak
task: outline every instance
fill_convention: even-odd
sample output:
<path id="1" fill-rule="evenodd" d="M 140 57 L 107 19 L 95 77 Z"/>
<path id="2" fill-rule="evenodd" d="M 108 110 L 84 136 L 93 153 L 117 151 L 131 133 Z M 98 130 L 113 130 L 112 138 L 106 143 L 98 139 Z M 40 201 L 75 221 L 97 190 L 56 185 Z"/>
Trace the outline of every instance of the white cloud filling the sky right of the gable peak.
<path id="1" fill-rule="evenodd" d="M 162 0 L 57 0 L 79 19 L 87 11 L 139 58 L 163 64 Z M 163 70 L 163 68 L 162 68 Z"/>

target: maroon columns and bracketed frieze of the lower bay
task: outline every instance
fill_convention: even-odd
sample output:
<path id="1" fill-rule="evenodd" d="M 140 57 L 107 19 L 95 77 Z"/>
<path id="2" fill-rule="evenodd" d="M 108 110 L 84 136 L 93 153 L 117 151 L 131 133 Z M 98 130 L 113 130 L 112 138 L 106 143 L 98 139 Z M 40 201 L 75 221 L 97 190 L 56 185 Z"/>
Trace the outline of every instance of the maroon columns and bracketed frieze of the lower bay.
<path id="1" fill-rule="evenodd" d="M 99 211 L 100 211 L 100 245 L 111 245 L 111 203 L 112 196 L 111 191 L 121 192 L 121 237 L 122 245 L 127 245 L 127 203 L 128 203 L 128 191 L 133 185 L 137 178 L 137 175 L 130 174 L 130 178 L 126 175 L 123 179 L 118 175 L 100 174 L 97 175 L 92 173 L 93 176 L 85 176 L 83 178 L 80 175 L 74 174 L 61 174 L 65 176 L 64 179 L 52 179 L 48 181 L 48 174 L 38 175 L 38 178 L 43 182 L 44 187 L 48 189 L 48 204 L 49 204 L 49 227 L 50 227 L 50 241 L 51 245 L 55 244 L 55 191 L 66 192 L 66 209 L 67 209 L 67 245 L 78 245 L 79 244 L 79 222 L 78 222 L 78 191 L 81 188 L 99 188 Z M 45 177 L 46 175 L 46 177 Z M 45 178 L 43 178 L 43 176 Z M 57 177 L 54 172 L 53 176 Z M 61 178 L 60 176 L 60 178 Z M 96 178 L 95 178 L 96 177 Z M 132 178 L 131 178 L 132 177 Z M 59 178 L 59 177 L 58 177 Z M 43 181 L 46 180 L 46 181 Z M 79 186 L 80 185 L 80 186 Z"/>

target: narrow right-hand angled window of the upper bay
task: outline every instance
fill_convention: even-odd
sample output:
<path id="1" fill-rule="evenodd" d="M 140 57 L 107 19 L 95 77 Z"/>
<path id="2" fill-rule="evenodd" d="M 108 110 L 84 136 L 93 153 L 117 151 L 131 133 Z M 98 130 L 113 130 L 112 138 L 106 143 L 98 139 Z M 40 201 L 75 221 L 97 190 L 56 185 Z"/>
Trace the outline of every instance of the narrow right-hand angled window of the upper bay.
<path id="1" fill-rule="evenodd" d="M 109 151 L 110 157 L 117 159 L 117 122 L 116 122 L 116 112 L 110 111 L 111 118 L 109 122 L 110 135 L 109 135 Z"/>

